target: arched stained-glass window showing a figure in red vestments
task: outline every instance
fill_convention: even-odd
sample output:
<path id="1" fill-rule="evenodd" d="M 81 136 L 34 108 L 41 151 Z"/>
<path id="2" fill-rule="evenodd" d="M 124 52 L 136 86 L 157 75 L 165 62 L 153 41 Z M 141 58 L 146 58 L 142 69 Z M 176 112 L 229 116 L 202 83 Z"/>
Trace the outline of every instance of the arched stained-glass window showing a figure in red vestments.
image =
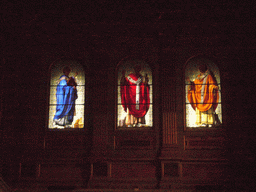
<path id="1" fill-rule="evenodd" d="M 117 68 L 117 127 L 153 126 L 153 86 L 150 66 L 141 60 L 121 61 Z"/>

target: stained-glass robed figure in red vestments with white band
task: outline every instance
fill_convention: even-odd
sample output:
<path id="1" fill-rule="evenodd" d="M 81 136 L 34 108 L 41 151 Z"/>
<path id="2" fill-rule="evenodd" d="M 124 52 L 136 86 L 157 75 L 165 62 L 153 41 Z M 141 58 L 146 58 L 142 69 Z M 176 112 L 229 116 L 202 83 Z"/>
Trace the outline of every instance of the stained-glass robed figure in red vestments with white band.
<path id="1" fill-rule="evenodd" d="M 145 124 L 145 115 L 149 109 L 149 85 L 147 75 L 140 74 L 141 67 L 134 67 L 135 73 L 125 77 L 125 71 L 121 78 L 121 102 L 127 116 L 124 125 L 128 127 L 142 126 Z"/>

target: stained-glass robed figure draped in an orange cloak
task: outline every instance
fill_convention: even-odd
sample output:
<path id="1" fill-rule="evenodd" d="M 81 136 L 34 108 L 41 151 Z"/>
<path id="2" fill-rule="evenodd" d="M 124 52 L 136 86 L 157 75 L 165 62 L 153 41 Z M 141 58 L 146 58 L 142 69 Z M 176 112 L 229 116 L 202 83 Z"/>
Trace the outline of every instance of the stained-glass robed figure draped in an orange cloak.
<path id="1" fill-rule="evenodd" d="M 196 124 L 212 127 L 219 100 L 218 85 L 205 64 L 199 66 L 199 71 L 196 80 L 190 81 L 187 98 L 196 111 Z M 186 80 L 189 81 L 188 78 Z"/>

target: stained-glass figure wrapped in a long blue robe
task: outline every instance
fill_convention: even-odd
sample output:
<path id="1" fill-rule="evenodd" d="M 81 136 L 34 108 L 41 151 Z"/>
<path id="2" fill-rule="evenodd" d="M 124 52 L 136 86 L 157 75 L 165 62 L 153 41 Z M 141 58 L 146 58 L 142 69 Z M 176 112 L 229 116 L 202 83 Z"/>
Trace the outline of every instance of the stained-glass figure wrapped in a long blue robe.
<path id="1" fill-rule="evenodd" d="M 57 127 L 61 126 L 59 128 L 70 127 L 70 125 L 72 125 L 75 112 L 77 84 L 74 77 L 68 76 L 70 71 L 71 69 L 69 67 L 64 67 L 64 75 L 60 77 L 56 89 L 57 105 L 53 124 Z"/>

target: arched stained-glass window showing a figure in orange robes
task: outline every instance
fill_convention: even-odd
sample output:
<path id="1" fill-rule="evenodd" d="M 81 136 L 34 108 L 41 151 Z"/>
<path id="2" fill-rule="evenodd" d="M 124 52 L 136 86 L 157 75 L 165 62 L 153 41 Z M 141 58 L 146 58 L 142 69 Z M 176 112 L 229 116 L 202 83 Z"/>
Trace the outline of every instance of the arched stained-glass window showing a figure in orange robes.
<path id="1" fill-rule="evenodd" d="M 205 57 L 193 57 L 185 68 L 186 127 L 219 127 L 222 123 L 220 71 Z"/>

